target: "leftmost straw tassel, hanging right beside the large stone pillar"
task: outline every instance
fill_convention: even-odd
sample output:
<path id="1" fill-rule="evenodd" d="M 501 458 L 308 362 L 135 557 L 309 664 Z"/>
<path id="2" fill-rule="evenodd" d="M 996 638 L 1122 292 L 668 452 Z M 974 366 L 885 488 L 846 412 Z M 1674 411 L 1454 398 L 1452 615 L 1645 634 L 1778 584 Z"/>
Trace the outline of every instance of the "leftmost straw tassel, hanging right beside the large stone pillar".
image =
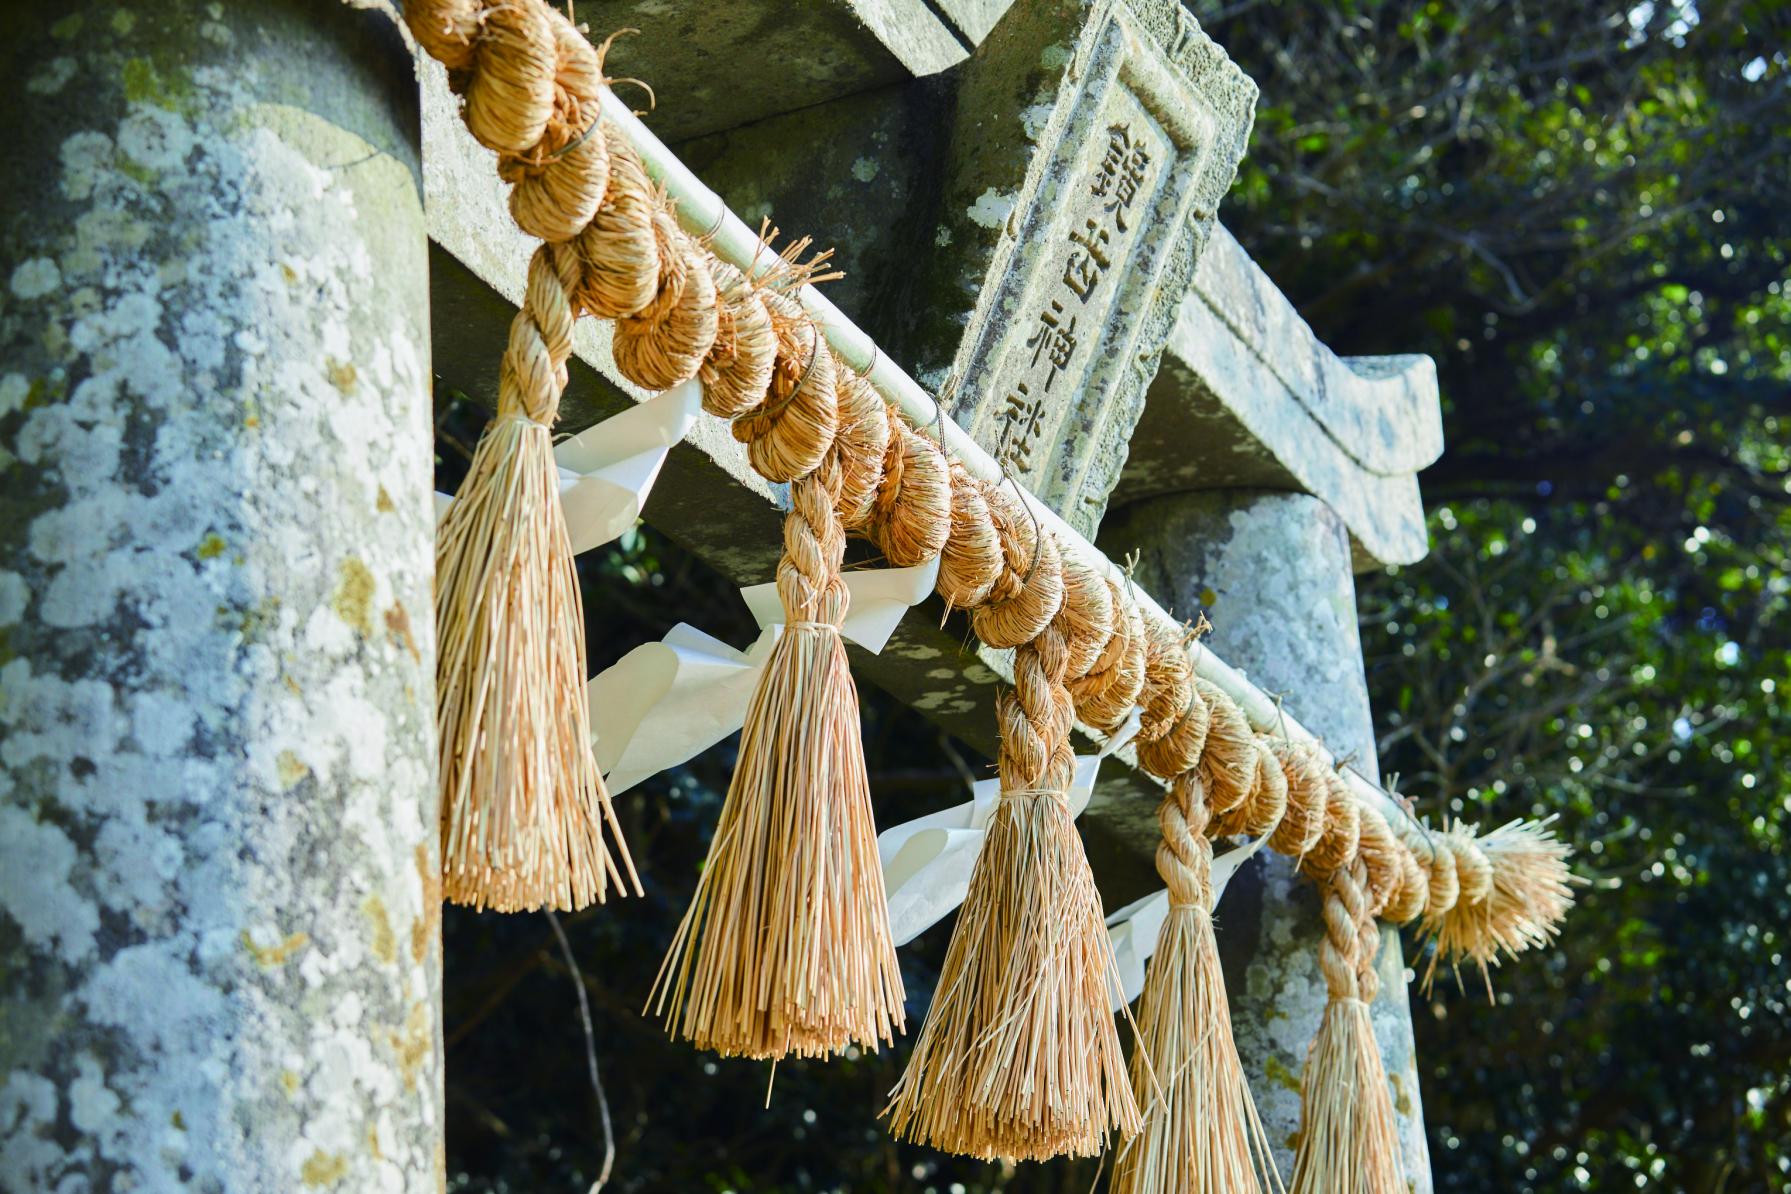
<path id="1" fill-rule="evenodd" d="M 577 260 L 543 245 L 510 324 L 498 417 L 435 539 L 442 891 L 473 908 L 577 909 L 634 863 L 591 755 L 584 612 L 552 424 Z"/>

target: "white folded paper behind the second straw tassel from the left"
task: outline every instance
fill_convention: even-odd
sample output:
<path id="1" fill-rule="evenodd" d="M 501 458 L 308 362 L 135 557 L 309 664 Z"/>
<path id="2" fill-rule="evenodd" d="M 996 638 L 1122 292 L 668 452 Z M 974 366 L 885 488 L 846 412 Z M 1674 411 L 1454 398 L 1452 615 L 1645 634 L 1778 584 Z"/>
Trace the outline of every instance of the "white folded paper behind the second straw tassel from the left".
<path id="1" fill-rule="evenodd" d="M 896 623 L 926 600 L 938 560 L 915 567 L 845 573 L 849 605 L 840 634 L 876 653 Z M 777 585 L 741 589 L 761 627 L 745 652 L 679 623 L 643 643 L 586 684 L 596 766 L 611 795 L 697 757 L 747 720 L 747 702 L 783 630 Z"/>

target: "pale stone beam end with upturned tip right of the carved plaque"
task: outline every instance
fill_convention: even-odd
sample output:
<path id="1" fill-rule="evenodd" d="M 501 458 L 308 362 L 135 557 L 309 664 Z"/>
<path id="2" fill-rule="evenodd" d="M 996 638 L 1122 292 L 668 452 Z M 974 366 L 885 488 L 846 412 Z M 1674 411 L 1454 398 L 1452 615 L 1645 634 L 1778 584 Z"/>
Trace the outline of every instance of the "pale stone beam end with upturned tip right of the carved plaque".
<path id="1" fill-rule="evenodd" d="M 1427 356 L 1340 358 L 1223 227 L 1180 301 L 1114 505 L 1295 489 L 1350 532 L 1358 571 L 1424 559 L 1420 469 L 1442 455 Z"/>

